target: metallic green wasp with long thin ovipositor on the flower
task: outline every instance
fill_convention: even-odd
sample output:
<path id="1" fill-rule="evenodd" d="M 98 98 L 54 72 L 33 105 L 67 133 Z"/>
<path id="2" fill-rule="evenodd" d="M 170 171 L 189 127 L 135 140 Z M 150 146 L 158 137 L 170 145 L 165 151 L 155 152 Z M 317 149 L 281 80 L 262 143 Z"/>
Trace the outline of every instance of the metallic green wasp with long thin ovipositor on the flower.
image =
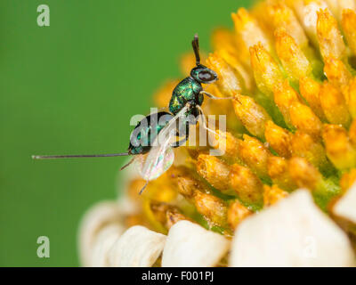
<path id="1" fill-rule="evenodd" d="M 206 126 L 206 118 L 201 104 L 204 95 L 212 99 L 231 99 L 230 97 L 219 98 L 204 91 L 202 84 L 210 84 L 216 81 L 217 75 L 212 69 L 200 64 L 198 35 L 192 41 L 196 56 L 196 67 L 191 69 L 190 77 L 184 78 L 175 88 L 169 102 L 171 113 L 161 111 L 150 114 L 140 121 L 130 136 L 129 148 L 126 152 L 98 154 L 98 155 L 50 155 L 33 156 L 33 159 L 70 159 L 70 158 L 100 158 L 134 156 L 124 167 L 129 166 L 141 155 L 145 155 L 143 162 L 139 164 L 140 173 L 147 184 L 172 166 L 174 162 L 173 148 L 182 145 L 189 138 L 190 125 L 195 125 L 198 118 L 203 118 L 203 127 L 213 132 Z M 182 137 L 179 140 L 179 137 Z M 147 155 L 146 155 L 147 154 Z"/>

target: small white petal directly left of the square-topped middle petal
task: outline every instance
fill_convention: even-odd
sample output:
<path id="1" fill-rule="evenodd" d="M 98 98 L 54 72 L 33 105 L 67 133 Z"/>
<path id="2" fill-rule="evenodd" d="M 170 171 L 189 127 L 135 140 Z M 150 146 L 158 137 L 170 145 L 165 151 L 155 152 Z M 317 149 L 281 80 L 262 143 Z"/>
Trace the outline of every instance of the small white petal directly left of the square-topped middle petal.
<path id="1" fill-rule="evenodd" d="M 129 228 L 113 245 L 109 264 L 115 267 L 150 267 L 165 247 L 166 236 L 141 225 Z"/>

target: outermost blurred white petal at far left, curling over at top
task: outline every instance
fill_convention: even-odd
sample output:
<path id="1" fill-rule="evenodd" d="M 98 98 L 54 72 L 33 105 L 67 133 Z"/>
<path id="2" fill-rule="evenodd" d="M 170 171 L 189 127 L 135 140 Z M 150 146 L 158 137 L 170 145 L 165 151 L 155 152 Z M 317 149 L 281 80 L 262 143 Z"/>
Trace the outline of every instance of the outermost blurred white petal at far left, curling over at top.
<path id="1" fill-rule="evenodd" d="M 91 265 L 93 243 L 98 232 L 107 224 L 123 224 L 122 214 L 117 207 L 117 202 L 101 202 L 85 213 L 78 235 L 79 255 L 82 265 Z"/>

